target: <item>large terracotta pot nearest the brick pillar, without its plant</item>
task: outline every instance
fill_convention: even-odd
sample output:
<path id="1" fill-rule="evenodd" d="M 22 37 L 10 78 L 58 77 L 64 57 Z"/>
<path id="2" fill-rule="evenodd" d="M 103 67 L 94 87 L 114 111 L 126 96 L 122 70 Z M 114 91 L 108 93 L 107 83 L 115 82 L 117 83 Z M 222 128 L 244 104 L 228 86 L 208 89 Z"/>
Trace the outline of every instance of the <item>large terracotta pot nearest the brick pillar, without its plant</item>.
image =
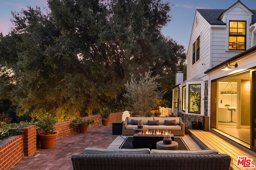
<path id="1" fill-rule="evenodd" d="M 42 149 L 51 149 L 51 148 L 53 148 L 57 136 L 58 136 L 57 132 L 54 132 L 54 134 L 51 134 L 51 135 L 39 134 L 41 148 Z"/>

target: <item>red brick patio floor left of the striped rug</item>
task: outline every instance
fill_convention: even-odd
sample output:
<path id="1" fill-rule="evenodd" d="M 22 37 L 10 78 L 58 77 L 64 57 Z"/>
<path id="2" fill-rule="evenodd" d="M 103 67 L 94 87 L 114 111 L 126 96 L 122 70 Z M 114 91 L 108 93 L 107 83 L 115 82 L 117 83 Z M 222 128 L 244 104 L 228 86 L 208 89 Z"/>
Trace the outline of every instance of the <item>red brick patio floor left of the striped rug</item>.
<path id="1" fill-rule="evenodd" d="M 70 156 L 86 147 L 107 148 L 118 135 L 112 135 L 112 123 L 57 139 L 52 149 L 40 149 L 23 157 L 12 170 L 72 170 Z"/>

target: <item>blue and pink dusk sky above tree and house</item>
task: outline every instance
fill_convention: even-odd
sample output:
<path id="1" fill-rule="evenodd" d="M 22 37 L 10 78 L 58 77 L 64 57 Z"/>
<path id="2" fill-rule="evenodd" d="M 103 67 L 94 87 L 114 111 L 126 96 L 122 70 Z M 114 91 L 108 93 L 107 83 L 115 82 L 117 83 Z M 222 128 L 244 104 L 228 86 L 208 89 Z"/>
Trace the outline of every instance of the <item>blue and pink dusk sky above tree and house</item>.
<path id="1" fill-rule="evenodd" d="M 256 10 L 256 0 L 240 1 L 249 9 Z M 227 9 L 237 0 L 169 0 L 169 2 L 174 4 L 170 11 L 172 21 L 162 29 L 162 33 L 187 49 L 196 9 Z M 11 11 L 20 12 L 22 9 L 27 9 L 27 5 L 32 7 L 38 5 L 43 9 L 42 7 L 47 8 L 47 0 L 0 0 L 0 32 L 6 35 L 10 31 Z"/>

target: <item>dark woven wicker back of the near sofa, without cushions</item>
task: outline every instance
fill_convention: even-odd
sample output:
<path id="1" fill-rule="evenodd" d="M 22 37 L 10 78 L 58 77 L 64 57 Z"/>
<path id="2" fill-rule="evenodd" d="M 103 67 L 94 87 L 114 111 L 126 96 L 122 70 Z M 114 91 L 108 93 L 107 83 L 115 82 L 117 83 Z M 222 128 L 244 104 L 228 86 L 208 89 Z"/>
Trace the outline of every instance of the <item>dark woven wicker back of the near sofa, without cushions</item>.
<path id="1" fill-rule="evenodd" d="M 73 170 L 231 170 L 228 154 L 83 154 L 71 156 Z"/>

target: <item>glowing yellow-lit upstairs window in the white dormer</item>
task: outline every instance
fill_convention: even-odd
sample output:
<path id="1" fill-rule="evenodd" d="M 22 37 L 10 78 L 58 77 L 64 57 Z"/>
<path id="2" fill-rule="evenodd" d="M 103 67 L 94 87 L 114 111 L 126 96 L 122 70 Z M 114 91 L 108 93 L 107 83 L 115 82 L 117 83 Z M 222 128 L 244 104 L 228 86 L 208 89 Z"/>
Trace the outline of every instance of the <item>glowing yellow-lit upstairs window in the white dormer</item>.
<path id="1" fill-rule="evenodd" d="M 229 50 L 245 50 L 246 21 L 229 21 Z"/>

